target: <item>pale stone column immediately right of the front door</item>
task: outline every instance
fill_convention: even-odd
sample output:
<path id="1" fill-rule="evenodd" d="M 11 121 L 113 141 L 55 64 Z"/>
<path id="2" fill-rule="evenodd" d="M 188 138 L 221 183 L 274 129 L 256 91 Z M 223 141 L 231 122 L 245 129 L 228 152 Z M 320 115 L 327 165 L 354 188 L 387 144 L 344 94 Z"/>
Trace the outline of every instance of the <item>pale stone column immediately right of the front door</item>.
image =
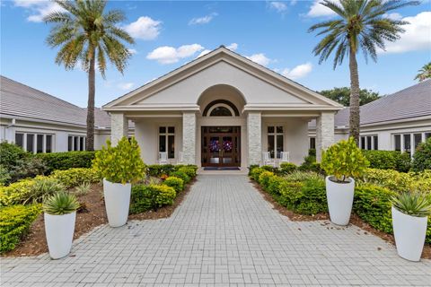
<path id="1" fill-rule="evenodd" d="M 247 115 L 247 143 L 249 166 L 262 161 L 262 117 L 260 112 L 251 111 Z"/>

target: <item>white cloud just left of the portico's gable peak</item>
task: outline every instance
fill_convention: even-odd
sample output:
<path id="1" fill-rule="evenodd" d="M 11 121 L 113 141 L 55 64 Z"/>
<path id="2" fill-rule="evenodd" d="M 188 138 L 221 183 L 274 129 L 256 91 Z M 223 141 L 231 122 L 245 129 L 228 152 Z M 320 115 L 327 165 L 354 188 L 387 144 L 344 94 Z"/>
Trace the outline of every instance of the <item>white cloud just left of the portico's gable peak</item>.
<path id="1" fill-rule="evenodd" d="M 173 48 L 170 46 L 163 46 L 155 48 L 152 52 L 146 56 L 149 60 L 156 60 L 160 64 L 173 64 L 180 61 L 185 57 L 191 57 L 198 51 L 204 48 L 199 44 L 183 45 L 179 48 Z"/>

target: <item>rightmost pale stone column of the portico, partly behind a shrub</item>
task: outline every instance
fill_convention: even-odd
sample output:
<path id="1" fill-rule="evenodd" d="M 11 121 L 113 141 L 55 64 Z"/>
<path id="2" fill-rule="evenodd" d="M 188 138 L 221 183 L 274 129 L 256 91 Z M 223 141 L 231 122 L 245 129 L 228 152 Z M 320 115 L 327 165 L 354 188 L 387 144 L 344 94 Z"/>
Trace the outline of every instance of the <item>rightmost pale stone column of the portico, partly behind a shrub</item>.
<path id="1" fill-rule="evenodd" d="M 316 119 L 316 159 L 321 161 L 321 151 L 334 143 L 334 112 L 322 111 Z M 366 143 L 365 143 L 366 144 Z"/>

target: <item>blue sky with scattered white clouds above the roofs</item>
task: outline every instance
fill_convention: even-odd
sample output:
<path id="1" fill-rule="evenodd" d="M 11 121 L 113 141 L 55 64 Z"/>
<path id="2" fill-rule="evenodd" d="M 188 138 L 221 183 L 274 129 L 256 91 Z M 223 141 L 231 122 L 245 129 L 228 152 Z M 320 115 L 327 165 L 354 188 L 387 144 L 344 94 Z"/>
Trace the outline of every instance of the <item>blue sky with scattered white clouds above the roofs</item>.
<path id="1" fill-rule="evenodd" d="M 307 30 L 336 18 L 319 1 L 110 1 L 127 20 L 119 25 L 134 37 L 133 57 L 124 74 L 109 65 L 106 79 L 96 76 L 96 106 L 101 107 L 180 65 L 224 45 L 269 69 L 321 91 L 349 86 L 348 62 L 333 70 L 332 58 L 319 64 L 312 48 L 321 39 Z M 57 4 L 39 0 L 1 1 L 0 74 L 86 107 L 87 74 L 77 66 L 55 64 L 56 48 L 45 42 L 51 26 L 43 17 Z M 387 43 L 374 63 L 358 55 L 361 88 L 390 94 L 415 84 L 418 69 L 431 61 L 431 1 L 386 15 L 409 22 L 395 43 Z"/>

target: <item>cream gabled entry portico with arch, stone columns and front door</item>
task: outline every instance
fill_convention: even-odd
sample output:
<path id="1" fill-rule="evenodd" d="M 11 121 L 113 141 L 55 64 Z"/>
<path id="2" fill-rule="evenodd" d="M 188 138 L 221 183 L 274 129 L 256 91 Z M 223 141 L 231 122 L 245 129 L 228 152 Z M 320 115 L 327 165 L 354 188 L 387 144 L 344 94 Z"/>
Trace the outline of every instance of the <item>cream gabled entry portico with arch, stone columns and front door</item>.
<path id="1" fill-rule="evenodd" d="M 334 141 L 338 103 L 220 47 L 103 107 L 115 144 L 128 120 L 145 163 L 166 152 L 171 163 L 238 166 L 277 161 L 289 152 L 299 164 L 308 151 L 308 122 L 316 119 L 316 148 Z M 180 154 L 182 156 L 180 156 Z"/>

